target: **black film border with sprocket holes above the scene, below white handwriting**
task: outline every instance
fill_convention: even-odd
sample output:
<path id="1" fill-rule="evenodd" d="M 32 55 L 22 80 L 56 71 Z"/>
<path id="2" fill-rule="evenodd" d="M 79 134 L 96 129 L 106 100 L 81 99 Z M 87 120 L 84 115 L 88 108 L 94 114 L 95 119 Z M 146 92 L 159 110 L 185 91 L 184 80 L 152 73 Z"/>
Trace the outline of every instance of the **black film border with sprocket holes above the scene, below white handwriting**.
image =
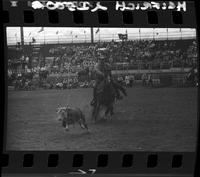
<path id="1" fill-rule="evenodd" d="M 17 1 L 17 6 L 12 1 L 3 1 L 4 23 L 6 26 L 101 26 L 101 27 L 168 27 L 168 28 L 193 28 L 196 27 L 194 3 L 186 1 L 186 11 L 177 10 L 116 10 L 116 2 L 101 3 L 108 10 L 103 11 L 69 11 L 33 9 L 31 1 Z M 137 2 L 134 2 L 137 3 Z M 141 2 L 140 2 L 141 3 Z M 41 15 L 43 18 L 41 18 Z M 53 18 L 52 18 L 53 17 Z"/>

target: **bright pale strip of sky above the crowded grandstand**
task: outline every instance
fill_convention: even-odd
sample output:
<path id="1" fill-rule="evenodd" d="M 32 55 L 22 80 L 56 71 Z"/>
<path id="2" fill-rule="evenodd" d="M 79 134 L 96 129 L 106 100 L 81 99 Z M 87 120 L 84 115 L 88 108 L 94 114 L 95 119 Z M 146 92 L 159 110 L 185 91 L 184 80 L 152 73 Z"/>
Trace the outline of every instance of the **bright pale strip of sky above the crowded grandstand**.
<path id="1" fill-rule="evenodd" d="M 8 45 L 21 42 L 20 32 L 20 27 L 7 28 Z M 127 34 L 128 40 L 196 39 L 193 28 L 93 28 L 94 42 L 120 41 L 119 34 Z M 25 44 L 90 43 L 91 28 L 23 27 L 23 39 Z"/>

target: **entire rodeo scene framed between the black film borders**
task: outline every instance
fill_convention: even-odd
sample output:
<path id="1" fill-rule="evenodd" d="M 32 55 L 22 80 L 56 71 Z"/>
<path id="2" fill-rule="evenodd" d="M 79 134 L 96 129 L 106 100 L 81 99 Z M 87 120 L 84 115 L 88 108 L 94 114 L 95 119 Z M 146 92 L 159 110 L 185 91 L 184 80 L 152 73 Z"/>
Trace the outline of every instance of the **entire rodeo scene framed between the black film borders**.
<path id="1" fill-rule="evenodd" d="M 7 150 L 194 151 L 195 29 L 7 28 Z"/>

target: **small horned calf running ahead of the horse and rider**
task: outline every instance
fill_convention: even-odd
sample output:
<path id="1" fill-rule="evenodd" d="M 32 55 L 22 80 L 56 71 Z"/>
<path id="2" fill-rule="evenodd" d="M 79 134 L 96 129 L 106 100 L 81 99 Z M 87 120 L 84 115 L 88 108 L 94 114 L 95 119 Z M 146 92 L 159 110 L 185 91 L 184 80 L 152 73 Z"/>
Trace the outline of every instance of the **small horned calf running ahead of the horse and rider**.
<path id="1" fill-rule="evenodd" d="M 66 131 L 69 130 L 70 124 L 75 126 L 75 123 L 78 123 L 81 128 L 87 129 L 88 131 L 85 116 L 79 108 L 61 107 L 58 108 L 57 114 L 59 115 L 58 120 L 62 121 L 62 125 Z"/>

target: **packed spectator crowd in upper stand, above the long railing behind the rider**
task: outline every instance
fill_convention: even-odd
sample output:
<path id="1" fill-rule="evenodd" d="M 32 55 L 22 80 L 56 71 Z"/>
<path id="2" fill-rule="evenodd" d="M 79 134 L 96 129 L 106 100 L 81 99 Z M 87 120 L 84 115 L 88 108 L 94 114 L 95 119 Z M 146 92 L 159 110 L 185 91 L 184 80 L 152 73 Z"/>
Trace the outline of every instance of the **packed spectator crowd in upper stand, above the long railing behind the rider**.
<path id="1" fill-rule="evenodd" d="M 91 45 L 56 46 L 49 49 L 52 66 L 72 71 L 92 67 L 104 55 L 113 70 L 193 67 L 197 63 L 196 41 L 126 41 Z"/>

